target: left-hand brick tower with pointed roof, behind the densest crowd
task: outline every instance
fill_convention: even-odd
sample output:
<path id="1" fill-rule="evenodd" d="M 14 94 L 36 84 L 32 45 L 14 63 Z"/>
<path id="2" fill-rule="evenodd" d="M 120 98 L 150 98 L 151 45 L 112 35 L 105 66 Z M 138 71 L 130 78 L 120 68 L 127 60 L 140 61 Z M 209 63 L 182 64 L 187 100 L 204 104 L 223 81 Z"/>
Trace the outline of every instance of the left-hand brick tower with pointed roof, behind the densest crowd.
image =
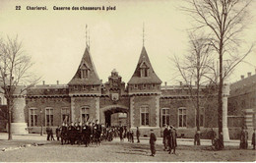
<path id="1" fill-rule="evenodd" d="M 68 87 L 71 97 L 71 121 L 98 120 L 101 81 L 96 74 L 88 41 L 77 72 L 69 81 Z"/>

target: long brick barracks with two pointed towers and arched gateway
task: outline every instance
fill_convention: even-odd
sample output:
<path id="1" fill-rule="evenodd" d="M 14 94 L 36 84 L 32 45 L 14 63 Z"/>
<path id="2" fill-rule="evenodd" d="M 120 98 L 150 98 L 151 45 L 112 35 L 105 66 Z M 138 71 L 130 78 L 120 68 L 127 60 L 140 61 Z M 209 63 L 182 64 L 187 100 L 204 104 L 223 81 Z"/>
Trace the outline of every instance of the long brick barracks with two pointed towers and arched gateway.
<path id="1" fill-rule="evenodd" d="M 127 84 L 115 70 L 110 73 L 108 81 L 102 83 L 87 46 L 76 74 L 67 84 L 59 84 L 58 81 L 57 84 L 43 82 L 24 94 L 15 96 L 12 132 L 40 133 L 41 128 L 45 132 L 47 126 L 55 129 L 62 123 L 98 120 L 106 127 L 126 126 L 131 130 L 139 127 L 142 136 L 149 136 L 151 129 L 157 136 L 161 136 L 164 125 L 172 125 L 178 136 L 193 137 L 196 131 L 196 109 L 188 87 L 181 82 L 179 85 L 161 83 L 145 46 L 142 47 L 138 64 Z M 251 104 L 248 103 L 247 107 L 246 95 L 241 101 L 245 105 L 237 103 L 239 95 L 233 95 L 236 90 L 231 90 L 228 111 L 229 86 L 224 87 L 224 131 L 227 136 L 229 133 L 228 138 L 237 138 L 237 133 L 244 125 L 251 128 L 253 126 L 255 80 L 252 84 L 254 96 L 251 96 Z M 239 85 L 235 84 L 233 87 L 239 89 Z M 248 91 L 249 89 L 248 87 Z M 200 92 L 202 98 L 203 91 L 204 88 Z M 247 89 L 240 88 L 240 95 L 246 94 L 243 91 Z M 211 100 L 201 107 L 199 123 L 202 137 L 207 138 L 212 128 L 218 131 L 217 102 L 217 93 L 213 92 Z"/>

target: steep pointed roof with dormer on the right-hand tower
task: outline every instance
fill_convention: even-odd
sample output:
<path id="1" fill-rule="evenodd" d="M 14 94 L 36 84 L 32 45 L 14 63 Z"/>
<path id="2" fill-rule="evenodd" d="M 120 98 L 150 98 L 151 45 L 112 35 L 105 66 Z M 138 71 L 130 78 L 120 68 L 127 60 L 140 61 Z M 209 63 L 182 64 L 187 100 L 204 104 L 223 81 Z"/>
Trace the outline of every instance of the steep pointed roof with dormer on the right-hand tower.
<path id="1" fill-rule="evenodd" d="M 141 77 L 140 68 L 143 68 L 143 67 L 147 67 L 149 69 L 148 77 Z M 142 48 L 141 56 L 137 64 L 137 67 L 135 69 L 135 72 L 131 80 L 128 81 L 128 84 L 138 84 L 138 83 L 161 83 L 160 78 L 157 76 L 157 74 L 155 73 L 151 65 L 149 56 L 144 46 Z"/>

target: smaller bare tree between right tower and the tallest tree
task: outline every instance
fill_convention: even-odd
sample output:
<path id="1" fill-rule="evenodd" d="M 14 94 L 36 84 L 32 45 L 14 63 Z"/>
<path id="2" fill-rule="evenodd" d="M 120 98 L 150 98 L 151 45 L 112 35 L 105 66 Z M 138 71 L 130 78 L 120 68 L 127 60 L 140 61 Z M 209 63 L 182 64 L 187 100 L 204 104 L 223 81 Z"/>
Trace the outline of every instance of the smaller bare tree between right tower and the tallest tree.
<path id="1" fill-rule="evenodd" d="M 216 85 L 217 72 L 209 39 L 204 35 L 198 36 L 193 33 L 189 34 L 189 38 L 190 48 L 188 54 L 183 56 L 184 59 L 174 56 L 173 62 L 186 83 L 185 86 L 188 89 L 190 101 L 196 109 L 197 131 L 200 131 L 200 108 L 205 105 L 213 94 L 211 87 Z M 192 84 L 194 81 L 195 85 Z M 202 91 L 203 89 L 204 91 Z"/>

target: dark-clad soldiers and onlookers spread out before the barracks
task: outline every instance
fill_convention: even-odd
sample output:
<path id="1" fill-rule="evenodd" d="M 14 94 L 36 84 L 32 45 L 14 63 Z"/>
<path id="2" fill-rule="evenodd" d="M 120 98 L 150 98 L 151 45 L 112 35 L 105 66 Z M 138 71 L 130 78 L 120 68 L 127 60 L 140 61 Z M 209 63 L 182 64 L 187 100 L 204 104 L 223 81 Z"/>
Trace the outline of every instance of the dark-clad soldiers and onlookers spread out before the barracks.
<path id="1" fill-rule="evenodd" d="M 51 128 L 46 128 L 47 140 L 54 140 L 53 132 Z M 221 143 L 220 136 L 217 138 L 216 132 L 211 129 L 208 133 L 210 138 L 212 139 L 212 145 L 218 146 Z M 140 142 L 140 130 L 137 127 L 136 133 L 127 129 L 126 127 L 109 127 L 106 128 L 96 121 L 96 123 L 86 122 L 75 123 L 72 122 L 68 125 L 63 123 L 61 127 L 56 129 L 56 137 L 57 140 L 61 141 L 61 144 L 85 144 L 85 146 L 90 145 L 100 145 L 103 140 L 111 141 L 114 137 L 120 137 L 120 141 L 124 141 L 124 138 L 127 138 L 129 142 L 134 142 L 134 135 L 136 135 L 137 142 Z M 221 136 L 223 136 L 221 134 Z M 252 135 L 252 145 L 253 149 L 255 149 L 256 139 L 255 139 L 255 130 Z M 219 141 L 218 141 L 219 140 Z M 151 130 L 150 135 L 150 147 L 152 156 L 156 155 L 156 141 L 157 136 L 154 134 L 154 131 Z M 177 132 L 173 126 L 165 126 L 163 130 L 163 150 L 168 151 L 168 153 L 175 154 L 176 146 L 177 146 Z M 197 131 L 194 137 L 194 144 L 200 145 L 200 133 Z M 220 149 L 222 146 L 219 146 Z M 248 132 L 245 128 L 242 129 L 240 134 L 240 148 L 246 149 L 248 147 Z M 216 147 L 218 148 L 218 147 Z"/>

